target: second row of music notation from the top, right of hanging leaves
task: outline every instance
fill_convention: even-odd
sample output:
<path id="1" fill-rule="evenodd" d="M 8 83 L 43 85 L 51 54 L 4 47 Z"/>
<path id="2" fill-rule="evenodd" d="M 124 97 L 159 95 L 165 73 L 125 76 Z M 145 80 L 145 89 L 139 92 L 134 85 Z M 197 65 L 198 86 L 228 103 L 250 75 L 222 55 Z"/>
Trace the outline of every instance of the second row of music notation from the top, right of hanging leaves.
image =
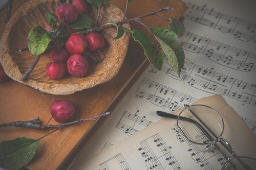
<path id="1" fill-rule="evenodd" d="M 211 61 L 239 71 L 256 72 L 256 54 L 186 31 L 181 38 L 183 49 L 201 54 Z"/>

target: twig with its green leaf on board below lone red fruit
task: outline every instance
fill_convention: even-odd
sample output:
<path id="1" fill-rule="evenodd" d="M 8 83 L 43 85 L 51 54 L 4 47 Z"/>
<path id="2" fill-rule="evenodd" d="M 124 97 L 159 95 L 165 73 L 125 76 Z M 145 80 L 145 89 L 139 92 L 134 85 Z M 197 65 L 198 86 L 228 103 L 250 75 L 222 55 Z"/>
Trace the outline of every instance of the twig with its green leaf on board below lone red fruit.
<path id="1" fill-rule="evenodd" d="M 79 119 L 73 122 L 59 124 L 59 125 L 41 125 L 41 121 L 39 117 L 29 120 L 29 121 L 18 121 L 11 122 L 6 124 L 0 124 L 1 127 L 6 126 L 14 126 L 14 127 L 27 127 L 32 129 L 54 129 L 53 131 L 47 133 L 46 135 L 40 137 L 39 139 L 29 139 L 26 137 L 16 138 L 13 140 L 6 140 L 0 142 L 0 167 L 5 169 L 19 169 L 27 165 L 35 156 L 35 152 L 37 150 L 38 143 L 40 139 L 45 138 L 46 136 L 56 132 L 59 128 L 65 126 L 71 126 L 78 124 L 80 122 L 87 122 L 90 120 L 95 120 L 99 117 L 109 115 L 109 112 L 100 114 L 98 116 L 87 118 L 87 119 Z"/>

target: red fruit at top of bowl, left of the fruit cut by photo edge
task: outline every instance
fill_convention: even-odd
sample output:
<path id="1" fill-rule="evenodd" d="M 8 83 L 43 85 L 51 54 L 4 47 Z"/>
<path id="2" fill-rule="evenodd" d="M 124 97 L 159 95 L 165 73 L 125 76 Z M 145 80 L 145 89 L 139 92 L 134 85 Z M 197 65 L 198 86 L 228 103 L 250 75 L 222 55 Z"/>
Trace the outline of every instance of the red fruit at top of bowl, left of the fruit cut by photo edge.
<path id="1" fill-rule="evenodd" d="M 68 3 L 63 3 L 58 6 L 56 10 L 56 15 L 59 20 L 65 23 L 74 22 L 78 16 L 76 8 Z"/>

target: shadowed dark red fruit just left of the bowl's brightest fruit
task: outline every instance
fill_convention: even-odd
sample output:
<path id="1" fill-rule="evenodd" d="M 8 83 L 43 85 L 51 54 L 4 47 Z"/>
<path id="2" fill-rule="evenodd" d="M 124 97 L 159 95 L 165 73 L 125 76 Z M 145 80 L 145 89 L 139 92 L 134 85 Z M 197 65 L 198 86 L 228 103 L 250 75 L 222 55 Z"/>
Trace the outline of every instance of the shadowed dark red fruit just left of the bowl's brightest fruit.
<path id="1" fill-rule="evenodd" d="M 66 63 L 70 57 L 69 52 L 63 46 L 55 45 L 54 49 L 50 53 L 53 62 Z"/>

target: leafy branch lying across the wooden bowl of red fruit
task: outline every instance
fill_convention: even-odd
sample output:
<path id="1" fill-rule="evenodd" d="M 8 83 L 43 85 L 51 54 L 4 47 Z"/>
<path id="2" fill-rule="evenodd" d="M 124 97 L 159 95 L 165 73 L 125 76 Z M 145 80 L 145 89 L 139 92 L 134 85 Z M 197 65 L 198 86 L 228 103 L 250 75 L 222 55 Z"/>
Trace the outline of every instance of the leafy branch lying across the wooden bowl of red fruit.
<path id="1" fill-rule="evenodd" d="M 99 9 L 99 8 L 101 8 L 101 6 L 106 5 L 109 1 L 108 0 L 105 0 L 105 1 L 104 0 L 98 0 L 98 1 L 88 0 L 88 2 L 90 4 L 92 4 L 94 7 L 96 7 L 97 9 Z M 126 2 L 126 8 L 127 8 L 127 4 L 130 3 L 130 2 L 132 2 L 132 1 L 130 0 L 130 1 Z M 41 3 L 42 3 L 42 1 L 41 1 Z M 41 6 L 44 8 L 43 4 Z M 147 26 L 144 25 L 143 22 L 140 21 L 141 18 L 151 16 L 151 15 L 159 16 L 159 15 L 157 15 L 157 13 L 159 13 L 159 12 L 166 12 L 166 11 L 173 11 L 173 10 L 174 10 L 173 8 L 169 8 L 169 7 L 161 8 L 157 11 L 150 12 L 150 13 L 147 13 L 147 14 L 144 14 L 144 15 L 141 15 L 141 16 L 133 17 L 133 18 L 126 19 L 126 17 L 124 17 L 122 20 L 117 21 L 117 22 L 109 21 L 109 23 L 105 23 L 105 24 L 103 24 L 102 26 L 99 26 L 99 27 L 94 27 L 94 20 L 92 18 L 90 18 L 89 16 L 87 16 L 85 14 L 81 14 L 81 15 L 78 16 L 78 19 L 75 22 L 69 24 L 69 27 L 71 27 L 73 29 L 76 29 L 76 30 L 81 30 L 81 31 L 78 31 L 78 33 L 80 33 L 80 34 L 88 34 L 88 33 L 91 33 L 91 32 L 102 31 L 104 29 L 108 29 L 108 28 L 111 28 L 111 27 L 116 27 L 117 35 L 113 39 L 118 39 L 118 38 L 122 37 L 122 35 L 124 34 L 124 28 L 121 27 L 121 25 L 123 23 L 135 21 L 135 22 L 140 23 L 141 25 L 143 25 L 147 29 L 149 29 Z M 31 53 L 33 55 L 37 56 L 37 57 L 34 59 L 33 63 L 30 65 L 30 67 L 25 72 L 25 74 L 22 76 L 22 78 L 20 79 L 21 81 L 27 80 L 28 76 L 30 75 L 30 73 L 34 69 L 36 63 L 39 61 L 40 54 L 44 53 L 47 50 L 48 45 L 50 44 L 51 41 L 57 42 L 56 40 L 58 40 L 58 39 L 63 41 L 63 39 L 61 39 L 61 38 L 65 38 L 65 37 L 68 37 L 68 36 L 71 35 L 70 33 L 67 33 L 67 31 L 66 31 L 66 33 L 61 33 L 60 34 L 59 33 L 60 24 L 53 24 L 52 23 L 53 20 L 51 19 L 52 17 L 55 18 L 54 14 L 51 14 L 51 13 L 48 12 L 48 23 L 49 23 L 49 25 L 51 24 L 53 27 L 59 25 L 59 27 L 57 29 L 55 29 L 53 34 L 50 35 L 50 33 L 48 31 L 46 31 L 46 30 L 42 29 L 41 27 L 37 26 L 37 27 L 33 28 L 30 31 L 29 35 L 28 35 L 28 44 L 29 44 L 28 48 L 31 51 Z M 162 18 L 162 17 L 160 17 L 160 18 Z M 162 18 L 162 19 L 164 19 L 164 18 Z M 58 33 L 56 33 L 56 32 L 58 32 Z M 137 31 L 135 31 L 135 32 L 138 33 Z M 132 31 L 132 33 L 134 33 L 134 31 Z M 157 45 L 154 45 L 154 43 L 152 45 L 150 45 L 150 48 L 153 47 L 155 49 L 156 53 L 158 53 L 158 55 L 155 56 L 155 55 L 153 55 L 153 53 L 148 52 L 148 48 L 145 47 L 147 45 L 143 44 L 143 42 L 146 42 L 146 41 L 140 40 L 138 38 L 148 39 L 148 37 L 146 37 L 146 35 L 142 35 L 142 36 L 139 36 L 139 37 L 137 36 L 137 38 L 134 39 L 134 40 L 139 41 L 140 45 L 143 46 L 144 51 L 145 51 L 145 55 L 147 56 L 150 63 L 152 65 L 154 65 L 156 68 L 161 69 L 162 63 L 163 63 L 163 56 L 157 50 L 157 47 L 156 47 Z M 157 38 L 157 40 L 159 40 L 159 38 Z M 162 41 L 160 41 L 159 43 L 162 44 Z M 168 45 L 170 45 L 170 44 L 168 44 Z M 166 44 L 165 44 L 165 46 L 166 46 Z M 165 47 L 165 49 L 166 49 L 166 47 Z M 149 55 L 149 54 L 151 54 L 151 55 Z M 175 51 L 174 51 L 174 53 L 168 53 L 168 54 L 169 55 L 167 55 L 167 56 L 172 55 L 172 56 L 176 57 L 174 55 Z M 156 62 L 155 57 L 158 58 L 157 59 L 158 62 Z M 167 59 L 169 59 L 169 57 L 167 57 Z M 183 64 L 178 64 L 178 62 L 182 63 L 183 62 L 182 58 L 178 62 L 173 62 L 175 60 L 168 60 L 168 61 L 170 62 L 171 65 L 178 68 L 178 69 L 176 68 L 175 70 L 179 74 L 179 72 L 181 70 L 181 68 L 179 66 L 183 66 Z"/>

